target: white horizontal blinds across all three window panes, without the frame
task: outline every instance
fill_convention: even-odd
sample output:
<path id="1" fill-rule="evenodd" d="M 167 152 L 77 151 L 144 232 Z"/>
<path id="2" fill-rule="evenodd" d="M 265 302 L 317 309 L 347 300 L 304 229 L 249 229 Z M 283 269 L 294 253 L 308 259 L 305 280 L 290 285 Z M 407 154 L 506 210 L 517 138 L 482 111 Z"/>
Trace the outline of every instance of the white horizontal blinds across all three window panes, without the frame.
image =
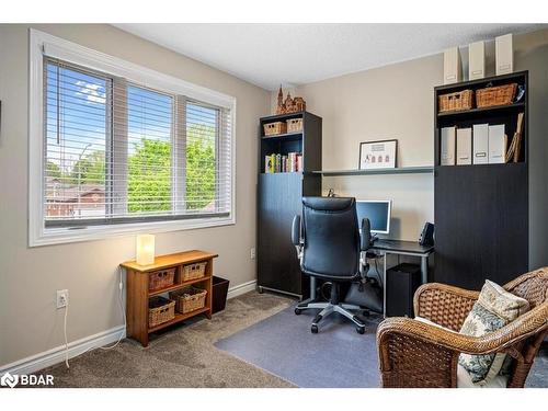
<path id="1" fill-rule="evenodd" d="M 230 110 L 44 64 L 46 227 L 226 217 Z"/>

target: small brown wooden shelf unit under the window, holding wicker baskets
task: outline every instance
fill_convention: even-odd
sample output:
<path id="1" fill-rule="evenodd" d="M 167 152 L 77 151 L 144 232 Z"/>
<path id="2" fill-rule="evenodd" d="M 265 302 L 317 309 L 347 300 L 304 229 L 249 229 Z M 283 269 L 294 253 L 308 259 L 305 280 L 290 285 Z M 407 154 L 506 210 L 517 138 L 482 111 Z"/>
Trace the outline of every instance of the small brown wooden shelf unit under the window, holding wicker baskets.
<path id="1" fill-rule="evenodd" d="M 127 273 L 127 294 L 126 294 L 126 316 L 127 328 L 126 335 L 139 341 L 142 346 L 148 345 L 150 333 L 161 330 L 165 327 L 184 321 L 191 317 L 205 313 L 208 319 L 212 318 L 212 288 L 213 288 L 213 259 L 218 256 L 207 251 L 192 250 L 175 254 L 158 255 L 155 263 L 150 265 L 139 265 L 135 261 L 122 263 Z M 206 262 L 205 276 L 201 278 L 182 282 L 181 272 L 183 265 L 198 262 Z M 158 270 L 175 269 L 175 282 L 172 286 L 162 289 L 149 290 L 149 275 Z M 205 307 L 187 312 L 175 312 L 175 318 L 165 321 L 156 327 L 148 324 L 148 300 L 150 297 L 160 294 L 174 292 L 185 288 L 190 285 L 197 285 L 207 290 Z"/>

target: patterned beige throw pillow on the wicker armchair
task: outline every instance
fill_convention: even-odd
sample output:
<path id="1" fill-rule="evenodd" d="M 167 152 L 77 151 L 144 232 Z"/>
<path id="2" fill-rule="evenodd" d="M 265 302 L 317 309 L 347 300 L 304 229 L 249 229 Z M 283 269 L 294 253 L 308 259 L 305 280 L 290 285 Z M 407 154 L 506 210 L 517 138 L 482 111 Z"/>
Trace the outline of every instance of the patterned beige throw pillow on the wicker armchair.
<path id="1" fill-rule="evenodd" d="M 503 328 L 529 310 L 529 302 L 506 292 L 500 285 L 486 281 L 478 300 L 466 318 L 460 332 L 481 336 Z M 468 372 L 475 385 L 489 386 L 498 377 L 506 354 L 460 354 L 458 364 Z"/>

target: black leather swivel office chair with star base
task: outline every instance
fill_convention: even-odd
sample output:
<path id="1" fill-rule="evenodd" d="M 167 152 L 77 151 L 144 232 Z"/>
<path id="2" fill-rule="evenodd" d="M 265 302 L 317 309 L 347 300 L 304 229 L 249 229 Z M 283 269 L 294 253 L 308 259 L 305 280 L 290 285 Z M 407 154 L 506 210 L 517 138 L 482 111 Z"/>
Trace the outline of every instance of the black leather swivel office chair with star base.
<path id="1" fill-rule="evenodd" d="M 352 311 L 361 307 L 340 302 L 341 283 L 351 283 L 367 273 L 365 251 L 370 247 L 369 220 L 362 221 L 359 236 L 355 198 L 304 197 L 302 225 L 300 217 L 293 219 L 292 241 L 297 248 L 300 270 L 310 276 L 310 298 L 297 305 L 295 313 L 306 309 L 321 309 L 312 321 L 312 333 L 318 323 L 332 312 L 339 312 L 365 332 L 365 323 Z M 331 282 L 329 302 L 316 299 L 316 278 Z"/>

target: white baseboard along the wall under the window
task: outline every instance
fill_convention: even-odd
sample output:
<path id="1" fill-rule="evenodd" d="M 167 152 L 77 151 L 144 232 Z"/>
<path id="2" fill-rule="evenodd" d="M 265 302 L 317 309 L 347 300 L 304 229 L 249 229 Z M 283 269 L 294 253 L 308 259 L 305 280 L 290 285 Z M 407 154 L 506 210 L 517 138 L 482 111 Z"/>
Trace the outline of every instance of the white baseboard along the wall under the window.
<path id="1" fill-rule="evenodd" d="M 253 289 L 255 289 L 255 286 L 256 281 L 253 279 L 243 284 L 239 284 L 235 287 L 230 287 L 228 289 L 227 299 L 252 292 Z M 88 350 L 98 349 L 100 346 L 115 343 L 116 341 L 118 341 L 121 333 L 123 333 L 124 338 L 126 336 L 126 330 L 124 326 L 115 327 L 94 335 L 72 341 L 68 344 L 68 356 L 69 358 L 72 358 L 84 353 Z M 26 358 L 19 359 L 11 364 L 0 366 L 0 374 L 31 374 L 52 365 L 62 363 L 64 361 L 65 345 L 59 345 L 55 349 L 44 351 L 43 353 L 38 353 Z"/>

